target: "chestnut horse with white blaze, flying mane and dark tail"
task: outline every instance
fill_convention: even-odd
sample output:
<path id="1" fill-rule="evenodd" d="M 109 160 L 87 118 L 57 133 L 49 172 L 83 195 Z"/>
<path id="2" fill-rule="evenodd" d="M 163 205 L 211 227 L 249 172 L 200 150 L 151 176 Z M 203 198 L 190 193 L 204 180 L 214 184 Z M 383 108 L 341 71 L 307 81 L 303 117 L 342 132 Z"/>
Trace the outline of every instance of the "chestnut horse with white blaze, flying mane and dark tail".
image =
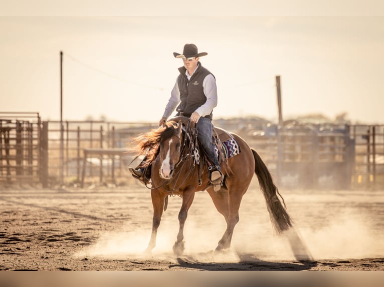
<path id="1" fill-rule="evenodd" d="M 227 222 L 227 229 L 216 250 L 230 248 L 234 227 L 239 221 L 240 203 L 254 173 L 257 175 L 260 189 L 265 196 L 275 231 L 281 233 L 292 226 L 291 218 L 285 209 L 284 199 L 274 184 L 267 166 L 260 155 L 235 133 L 231 134 L 237 140 L 241 152 L 227 161 L 221 162 L 225 176 L 224 184 L 221 190 L 217 192 L 213 190 L 207 166 L 204 166 L 199 172 L 199 165 L 194 163 L 194 158 L 190 155 L 193 154 L 190 146 L 194 141 L 188 139 L 187 129 L 182 128 L 182 124 L 185 125 L 188 120 L 185 117 L 175 117 L 158 129 L 136 138 L 140 152 L 146 153 L 147 160 L 144 166 L 151 168 L 153 222 L 146 252 L 150 253 L 155 247 L 157 228 L 162 212 L 166 209 L 167 196 L 175 194 L 182 197 L 182 204 L 178 213 L 179 230 L 173 251 L 176 255 L 182 254 L 184 250 L 183 229 L 188 209 L 194 201 L 195 192 L 203 190 L 208 191 L 217 210 Z M 203 164 L 202 160 L 200 164 Z"/>

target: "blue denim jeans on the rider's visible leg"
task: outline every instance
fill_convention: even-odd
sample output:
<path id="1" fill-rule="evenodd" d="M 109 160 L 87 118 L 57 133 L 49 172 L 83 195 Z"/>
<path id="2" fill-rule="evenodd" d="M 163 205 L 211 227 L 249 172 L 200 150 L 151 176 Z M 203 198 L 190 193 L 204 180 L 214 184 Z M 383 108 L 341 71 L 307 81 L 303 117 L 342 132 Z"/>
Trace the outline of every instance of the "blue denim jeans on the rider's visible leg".
<path id="1" fill-rule="evenodd" d="M 207 153 L 208 159 L 211 161 L 213 165 L 219 166 L 219 160 L 215 152 L 215 145 L 212 141 L 212 131 L 213 131 L 214 125 L 212 123 L 212 120 L 201 116 L 198 121 L 198 139 L 200 145 L 203 147 L 205 152 Z"/>

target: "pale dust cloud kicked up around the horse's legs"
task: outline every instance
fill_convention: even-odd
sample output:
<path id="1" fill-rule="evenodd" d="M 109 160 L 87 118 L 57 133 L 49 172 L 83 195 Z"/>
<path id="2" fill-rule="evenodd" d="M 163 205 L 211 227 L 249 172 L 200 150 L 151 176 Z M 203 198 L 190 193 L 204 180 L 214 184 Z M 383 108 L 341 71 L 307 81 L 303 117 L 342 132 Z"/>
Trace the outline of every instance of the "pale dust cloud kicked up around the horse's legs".
<path id="1" fill-rule="evenodd" d="M 273 233 L 261 192 L 249 190 L 243 198 L 231 250 L 221 254 L 213 250 L 225 231 L 225 220 L 208 194 L 199 192 L 185 223 L 184 255 L 210 262 L 238 262 L 247 254 L 263 260 L 384 256 L 380 225 L 383 216 L 381 204 L 377 204 L 384 202 L 384 196 L 343 192 L 287 191 L 284 198 L 295 222 L 294 229 L 278 236 Z M 178 231 L 180 200 L 172 198 L 169 202 L 168 210 L 162 216 L 152 257 L 175 257 L 172 246 Z M 151 221 L 151 217 L 148 216 L 147 220 Z M 120 231 L 106 232 L 76 256 L 145 258 L 143 251 L 151 230 L 149 224 L 145 228 L 137 226 L 140 225 L 133 226 L 132 222 L 127 222 Z"/>

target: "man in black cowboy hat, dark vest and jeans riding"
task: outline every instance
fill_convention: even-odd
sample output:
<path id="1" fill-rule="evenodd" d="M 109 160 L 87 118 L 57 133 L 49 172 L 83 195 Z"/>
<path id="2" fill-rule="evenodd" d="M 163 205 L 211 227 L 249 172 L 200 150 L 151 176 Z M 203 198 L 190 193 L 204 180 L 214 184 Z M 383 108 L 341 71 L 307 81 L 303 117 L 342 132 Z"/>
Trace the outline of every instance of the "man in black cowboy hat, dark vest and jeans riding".
<path id="1" fill-rule="evenodd" d="M 185 44 L 182 54 L 173 53 L 174 57 L 182 59 L 184 65 L 178 68 L 180 73 L 159 125 L 168 119 L 176 106 L 176 115 L 187 116 L 191 122 L 197 125 L 198 140 L 209 161 L 210 181 L 214 190 L 218 191 L 223 184 L 224 176 L 212 139 L 212 110 L 217 105 L 216 79 L 199 61 L 201 56 L 207 54 L 206 52 L 199 53 L 195 44 Z M 144 168 L 140 164 L 136 168 L 129 168 L 129 170 L 134 177 L 142 182 L 144 177 L 149 175 L 144 174 Z"/>

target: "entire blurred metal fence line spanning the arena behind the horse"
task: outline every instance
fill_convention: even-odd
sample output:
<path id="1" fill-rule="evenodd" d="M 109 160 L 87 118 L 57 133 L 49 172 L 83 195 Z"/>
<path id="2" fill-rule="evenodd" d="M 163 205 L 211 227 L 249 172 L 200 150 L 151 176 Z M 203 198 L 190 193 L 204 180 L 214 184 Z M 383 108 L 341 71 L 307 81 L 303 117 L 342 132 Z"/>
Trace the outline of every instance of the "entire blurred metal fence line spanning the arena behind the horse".
<path id="1" fill-rule="evenodd" d="M 384 125 L 277 128 L 239 120 L 215 124 L 240 134 L 258 150 L 280 186 L 384 187 Z M 15 182 L 118 183 L 130 178 L 127 165 L 134 153 L 128 143 L 156 127 L 154 123 L 64 121 L 61 138 L 59 121 L 43 122 L 38 113 L 0 112 L 0 187 Z"/>

